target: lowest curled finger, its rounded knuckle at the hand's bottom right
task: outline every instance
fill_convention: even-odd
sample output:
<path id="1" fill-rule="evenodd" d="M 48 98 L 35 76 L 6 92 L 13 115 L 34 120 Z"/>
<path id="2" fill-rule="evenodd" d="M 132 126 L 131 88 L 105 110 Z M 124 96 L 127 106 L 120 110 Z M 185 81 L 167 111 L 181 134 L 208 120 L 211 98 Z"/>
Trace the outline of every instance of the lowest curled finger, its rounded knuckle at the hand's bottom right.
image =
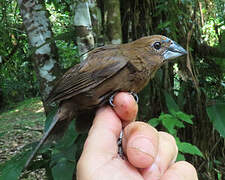
<path id="1" fill-rule="evenodd" d="M 196 169 L 186 161 L 173 164 L 160 180 L 198 180 Z M 150 179 L 149 179 L 150 180 Z"/>

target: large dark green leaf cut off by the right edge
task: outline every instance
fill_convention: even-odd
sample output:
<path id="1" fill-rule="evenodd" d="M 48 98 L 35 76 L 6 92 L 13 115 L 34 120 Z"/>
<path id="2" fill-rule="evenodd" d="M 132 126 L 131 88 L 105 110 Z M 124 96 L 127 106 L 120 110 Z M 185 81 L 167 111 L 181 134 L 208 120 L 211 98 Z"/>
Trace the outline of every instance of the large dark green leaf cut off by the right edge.
<path id="1" fill-rule="evenodd" d="M 218 103 L 206 109 L 209 119 L 213 123 L 213 127 L 225 137 L 225 104 Z"/>

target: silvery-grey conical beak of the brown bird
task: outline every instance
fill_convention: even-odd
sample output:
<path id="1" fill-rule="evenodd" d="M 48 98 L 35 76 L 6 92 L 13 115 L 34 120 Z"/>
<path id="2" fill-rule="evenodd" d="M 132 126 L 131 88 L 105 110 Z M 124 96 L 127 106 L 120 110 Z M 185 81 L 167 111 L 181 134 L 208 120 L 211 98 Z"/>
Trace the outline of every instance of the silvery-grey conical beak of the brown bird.
<path id="1" fill-rule="evenodd" d="M 163 54 L 163 57 L 165 60 L 167 59 L 174 59 L 176 57 L 182 56 L 187 54 L 187 51 L 182 48 L 179 44 L 176 42 L 170 40 L 172 43 L 170 44 L 169 48 L 165 53 Z"/>

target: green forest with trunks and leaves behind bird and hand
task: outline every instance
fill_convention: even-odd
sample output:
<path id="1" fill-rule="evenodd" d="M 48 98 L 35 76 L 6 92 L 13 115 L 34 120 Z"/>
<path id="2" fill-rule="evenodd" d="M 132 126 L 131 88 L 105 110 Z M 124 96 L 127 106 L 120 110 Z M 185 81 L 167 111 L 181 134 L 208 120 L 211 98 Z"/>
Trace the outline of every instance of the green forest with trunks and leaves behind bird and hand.
<path id="1" fill-rule="evenodd" d="M 178 160 L 199 179 L 225 179 L 224 0 L 1 0 L 0 179 L 75 177 L 85 136 L 72 125 L 23 170 L 54 112 L 45 99 L 87 51 L 152 34 L 188 55 L 165 64 L 139 94 L 138 120 L 175 136 Z"/>

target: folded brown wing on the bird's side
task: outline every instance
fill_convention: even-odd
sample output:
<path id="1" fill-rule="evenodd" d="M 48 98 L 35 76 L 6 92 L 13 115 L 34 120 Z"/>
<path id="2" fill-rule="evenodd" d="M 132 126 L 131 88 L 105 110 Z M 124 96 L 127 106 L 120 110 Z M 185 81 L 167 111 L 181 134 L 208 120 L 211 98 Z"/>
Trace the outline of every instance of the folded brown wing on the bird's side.
<path id="1" fill-rule="evenodd" d="M 114 46 L 91 51 L 86 60 L 67 71 L 57 82 L 47 102 L 62 101 L 91 90 L 127 64 Z"/>

